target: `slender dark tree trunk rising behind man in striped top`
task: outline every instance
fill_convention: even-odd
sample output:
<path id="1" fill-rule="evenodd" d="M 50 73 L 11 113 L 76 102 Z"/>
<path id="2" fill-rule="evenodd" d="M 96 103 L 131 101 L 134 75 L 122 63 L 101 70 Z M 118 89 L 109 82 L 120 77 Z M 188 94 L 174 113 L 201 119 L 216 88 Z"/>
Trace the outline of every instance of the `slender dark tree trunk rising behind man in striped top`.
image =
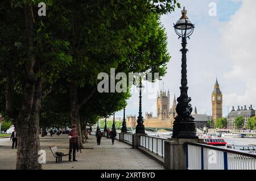
<path id="1" fill-rule="evenodd" d="M 76 125 L 77 133 L 79 134 L 79 143 L 82 145 L 82 134 L 81 134 L 81 126 L 80 126 L 80 116 L 79 116 L 79 104 L 77 100 L 77 87 L 75 82 L 71 82 L 69 84 L 70 89 L 70 102 L 71 102 L 71 123 L 72 125 Z"/>

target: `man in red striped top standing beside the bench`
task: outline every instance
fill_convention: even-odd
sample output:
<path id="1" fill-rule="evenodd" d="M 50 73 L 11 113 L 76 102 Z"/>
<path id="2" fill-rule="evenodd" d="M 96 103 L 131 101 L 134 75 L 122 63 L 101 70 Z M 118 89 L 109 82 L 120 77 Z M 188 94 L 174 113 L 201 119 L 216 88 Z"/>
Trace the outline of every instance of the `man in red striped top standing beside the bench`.
<path id="1" fill-rule="evenodd" d="M 69 137 L 69 155 L 68 155 L 68 161 L 71 161 L 71 154 L 73 151 L 73 161 L 77 161 L 76 159 L 76 149 L 77 149 L 77 144 L 78 144 L 78 134 L 76 131 L 76 125 L 72 125 L 71 131 L 68 133 Z"/>

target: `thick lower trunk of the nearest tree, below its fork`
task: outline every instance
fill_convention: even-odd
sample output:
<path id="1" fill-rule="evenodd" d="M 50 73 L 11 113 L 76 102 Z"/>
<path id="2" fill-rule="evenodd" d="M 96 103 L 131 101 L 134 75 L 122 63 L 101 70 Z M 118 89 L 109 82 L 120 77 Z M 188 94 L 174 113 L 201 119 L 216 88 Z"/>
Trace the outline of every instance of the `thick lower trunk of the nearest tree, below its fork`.
<path id="1" fill-rule="evenodd" d="M 41 102 L 42 81 L 28 81 L 24 88 L 24 101 L 17 121 L 18 150 L 16 169 L 38 170 L 39 144 L 39 113 Z"/>

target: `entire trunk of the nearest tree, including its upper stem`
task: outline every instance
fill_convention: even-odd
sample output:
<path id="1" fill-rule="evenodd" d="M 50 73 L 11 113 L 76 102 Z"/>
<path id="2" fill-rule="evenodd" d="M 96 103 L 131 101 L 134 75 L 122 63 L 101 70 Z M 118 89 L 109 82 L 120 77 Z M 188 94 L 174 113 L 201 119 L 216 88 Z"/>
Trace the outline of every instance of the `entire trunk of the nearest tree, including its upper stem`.
<path id="1" fill-rule="evenodd" d="M 27 27 L 27 40 L 30 52 L 34 51 L 33 11 L 28 3 L 24 4 L 24 13 Z M 18 150 L 16 169 L 39 170 L 38 162 L 39 143 L 39 115 L 42 95 L 42 79 L 36 76 L 36 62 L 34 54 L 28 54 L 25 64 L 26 77 L 24 80 L 23 100 L 16 127 L 18 132 Z M 38 67 L 39 68 L 39 67 Z M 39 71 L 39 69 L 37 69 Z"/>

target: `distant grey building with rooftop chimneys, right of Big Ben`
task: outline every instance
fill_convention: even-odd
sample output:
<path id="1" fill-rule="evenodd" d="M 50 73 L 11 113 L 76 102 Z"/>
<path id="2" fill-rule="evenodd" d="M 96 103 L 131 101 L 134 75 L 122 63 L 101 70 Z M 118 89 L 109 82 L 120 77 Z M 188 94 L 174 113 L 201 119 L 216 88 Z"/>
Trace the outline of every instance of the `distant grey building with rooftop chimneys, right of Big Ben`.
<path id="1" fill-rule="evenodd" d="M 240 109 L 240 106 L 238 106 L 237 110 L 234 110 L 234 106 L 233 106 L 233 109 L 228 115 L 228 129 L 236 129 L 234 121 L 238 116 L 243 116 L 243 119 L 245 119 L 245 123 L 243 124 L 242 127 L 246 128 L 247 119 L 255 116 L 255 110 L 253 109 L 253 105 L 251 105 L 248 110 L 246 106 L 244 108 L 241 107 L 241 109 Z"/>

